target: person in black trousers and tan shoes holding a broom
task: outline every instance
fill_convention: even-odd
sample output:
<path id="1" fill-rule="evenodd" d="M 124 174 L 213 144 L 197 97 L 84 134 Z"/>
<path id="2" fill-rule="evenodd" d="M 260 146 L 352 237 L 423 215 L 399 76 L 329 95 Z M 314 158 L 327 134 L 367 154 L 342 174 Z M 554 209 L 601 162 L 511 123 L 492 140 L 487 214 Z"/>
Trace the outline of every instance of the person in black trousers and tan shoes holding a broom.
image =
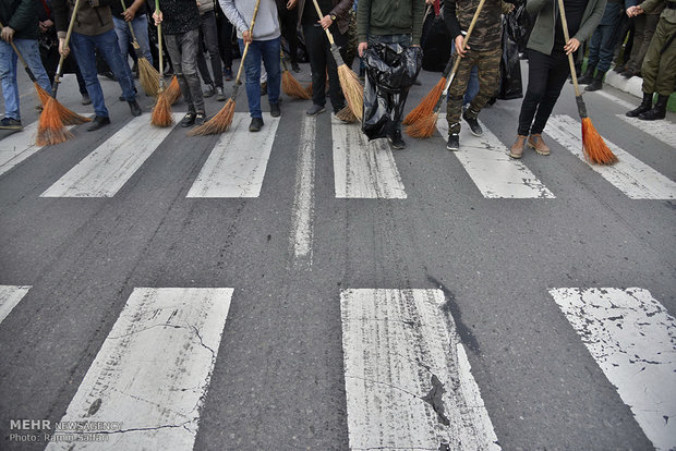
<path id="1" fill-rule="evenodd" d="M 606 0 L 564 0 L 570 36 L 566 42 L 555 2 L 529 0 L 526 3 L 526 10 L 535 20 L 527 45 L 528 89 L 519 112 L 517 141 L 509 149 L 511 158 L 521 158 L 526 144 L 540 155 L 550 155 L 542 131 L 570 74 L 568 54 L 577 51 L 580 42 L 594 32 L 605 4 Z"/>

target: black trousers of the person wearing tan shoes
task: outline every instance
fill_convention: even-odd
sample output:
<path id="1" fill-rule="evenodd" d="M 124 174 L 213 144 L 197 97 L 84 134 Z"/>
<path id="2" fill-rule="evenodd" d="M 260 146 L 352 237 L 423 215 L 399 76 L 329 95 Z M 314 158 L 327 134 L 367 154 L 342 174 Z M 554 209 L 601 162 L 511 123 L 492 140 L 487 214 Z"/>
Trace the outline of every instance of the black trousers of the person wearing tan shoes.
<path id="1" fill-rule="evenodd" d="M 545 54 L 528 50 L 528 89 L 519 113 L 519 135 L 542 133 L 569 74 L 564 51 Z"/>

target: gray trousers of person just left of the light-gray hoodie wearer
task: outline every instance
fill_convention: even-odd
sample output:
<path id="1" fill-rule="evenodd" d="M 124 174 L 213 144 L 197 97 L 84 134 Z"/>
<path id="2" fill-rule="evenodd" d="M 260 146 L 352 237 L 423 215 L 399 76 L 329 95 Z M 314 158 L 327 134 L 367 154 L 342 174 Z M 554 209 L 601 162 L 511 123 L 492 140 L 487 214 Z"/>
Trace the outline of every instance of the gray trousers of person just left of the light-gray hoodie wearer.
<path id="1" fill-rule="evenodd" d="M 205 112 L 202 83 L 197 75 L 198 38 L 197 29 L 178 35 L 165 35 L 167 51 L 173 63 L 173 73 L 179 78 L 181 94 L 188 103 L 189 112 Z"/>

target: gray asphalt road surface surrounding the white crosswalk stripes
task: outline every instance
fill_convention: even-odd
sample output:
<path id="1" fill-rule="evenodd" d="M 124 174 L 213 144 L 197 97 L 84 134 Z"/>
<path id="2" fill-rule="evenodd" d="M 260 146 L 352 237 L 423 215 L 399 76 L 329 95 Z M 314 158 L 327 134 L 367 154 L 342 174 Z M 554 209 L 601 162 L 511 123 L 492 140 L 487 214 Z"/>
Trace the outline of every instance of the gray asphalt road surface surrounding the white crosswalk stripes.
<path id="1" fill-rule="evenodd" d="M 297 76 L 307 81 L 309 65 L 302 69 Z M 438 77 L 422 72 L 422 86 L 412 88 L 407 108 Z M 37 118 L 36 100 L 25 74 L 20 78 L 27 125 Z M 337 197 L 339 139 L 329 113 L 304 125 L 310 102 L 286 96 L 257 195 L 189 197 L 221 136 L 188 137 L 177 126 L 111 196 L 41 196 L 131 121 L 117 99 L 117 84 L 105 78 L 101 84 L 110 126 L 95 133 L 76 127 L 74 139 L 39 149 L 0 175 L 0 285 L 31 287 L 0 322 L 1 449 L 45 448 L 43 439 L 31 443 L 10 436 L 53 432 L 138 288 L 233 289 L 222 336 L 216 333 L 216 345 L 209 346 L 217 355 L 206 369 L 207 383 L 196 394 L 195 450 L 359 449 L 349 417 L 360 413 L 348 405 L 350 350 L 343 348 L 346 305 L 350 291 L 359 289 L 443 293 L 449 330 L 467 351 L 505 450 L 653 449 L 631 402 L 618 393 L 618 383 L 608 379 L 552 293 L 647 290 L 667 321 L 666 341 L 653 349 L 672 355 L 661 364 L 671 376 L 656 386 L 666 390 L 657 393 L 666 406 L 655 409 L 676 413 L 676 398 L 669 395 L 676 368 L 676 149 L 663 141 L 674 137 L 673 113 L 659 134 L 618 117 L 627 110 L 621 102 L 636 98 L 611 87 L 604 89 L 609 97 L 584 96 L 601 135 L 650 169 L 638 179 L 667 179 L 667 194 L 656 198 L 630 197 L 547 135 L 552 155 L 527 149 L 522 164 L 551 196 L 492 197 L 467 169 L 481 170 L 482 162 L 463 163 L 460 153 L 446 150 L 440 134 L 407 138 L 407 149 L 391 154 L 405 195 L 384 190 L 374 198 Z M 59 96 L 76 111 L 90 111 L 79 105 L 73 76 L 67 76 Z M 140 102 L 149 122 L 150 99 Z M 207 113 L 221 106 L 207 99 Z M 515 137 L 519 107 L 520 100 L 498 101 L 480 115 L 504 146 Z M 173 109 L 184 108 L 180 102 Z M 243 89 L 237 111 L 248 111 Z M 554 114 L 579 119 L 570 85 Z M 265 127 L 273 126 L 266 121 Z M 315 127 L 312 138 L 304 126 Z M 135 148 L 150 130 L 148 124 L 126 137 L 124 146 Z M 228 133 L 246 148 L 249 132 Z M 2 151 L 10 150 L 3 146 L 10 138 L 0 135 Z M 491 171 L 486 180 L 503 176 Z M 347 184 L 358 182 L 348 178 Z M 298 221 L 305 228 L 301 239 Z M 299 240 L 305 246 L 300 254 Z M 639 324 L 628 326 L 630 337 L 641 336 Z M 637 383 L 637 391 L 651 388 Z M 108 419 L 124 422 L 128 432 L 118 435 L 143 427 L 129 415 L 109 414 Z M 389 415 L 390 425 L 413 420 L 397 411 Z M 673 419 L 666 416 L 668 425 Z M 47 419 L 51 428 L 16 430 L 11 423 L 16 419 Z M 372 430 L 371 438 L 377 435 Z M 676 447 L 674 435 L 671 440 Z M 396 446 L 413 449 L 406 441 L 381 448 Z M 470 448 L 460 442 L 448 449 Z"/>

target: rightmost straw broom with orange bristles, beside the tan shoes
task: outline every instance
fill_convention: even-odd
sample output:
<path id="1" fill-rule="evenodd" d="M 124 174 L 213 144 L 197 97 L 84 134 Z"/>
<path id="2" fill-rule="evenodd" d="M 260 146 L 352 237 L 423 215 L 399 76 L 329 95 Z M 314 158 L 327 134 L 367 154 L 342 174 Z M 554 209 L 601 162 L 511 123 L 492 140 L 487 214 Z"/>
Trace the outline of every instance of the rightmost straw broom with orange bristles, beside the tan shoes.
<path id="1" fill-rule="evenodd" d="M 558 0 L 558 9 L 562 13 L 562 25 L 564 27 L 564 38 L 568 42 L 568 21 L 566 21 L 566 11 L 564 10 L 564 0 Z M 568 53 L 568 63 L 570 64 L 570 75 L 572 75 L 572 85 L 575 86 L 575 99 L 578 103 L 578 113 L 582 120 L 582 151 L 584 158 L 595 164 L 613 164 L 617 162 L 615 154 L 608 149 L 605 142 L 594 129 L 591 119 L 587 115 L 587 107 L 582 100 L 580 86 L 578 85 L 578 76 L 575 71 L 575 62 L 572 61 L 572 52 Z"/>

